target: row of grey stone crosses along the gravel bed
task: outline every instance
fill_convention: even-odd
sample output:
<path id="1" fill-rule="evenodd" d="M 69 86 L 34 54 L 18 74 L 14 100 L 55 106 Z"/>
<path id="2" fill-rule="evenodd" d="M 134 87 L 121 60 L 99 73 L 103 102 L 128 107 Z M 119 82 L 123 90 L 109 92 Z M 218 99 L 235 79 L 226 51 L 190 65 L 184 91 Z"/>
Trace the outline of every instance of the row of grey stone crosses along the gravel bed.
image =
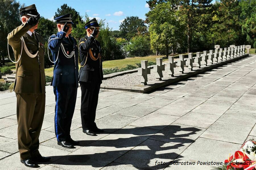
<path id="1" fill-rule="evenodd" d="M 193 53 L 188 53 L 187 60 L 184 59 L 184 55 L 179 55 L 178 61 L 174 61 L 173 56 L 168 57 L 168 63 L 166 63 L 166 70 L 168 71 L 168 74 L 172 77 L 174 76 L 174 67 L 176 67 L 176 63 L 179 67 L 179 72 L 184 73 L 184 65 L 187 65 L 188 69 L 192 71 L 193 63 L 196 63 L 197 68 L 201 68 L 201 64 L 203 66 L 208 66 L 219 61 L 224 61 L 230 58 L 234 58 L 236 56 L 241 56 L 245 54 L 245 48 L 247 49 L 247 53 L 249 53 L 249 49 L 251 48 L 250 45 L 230 45 L 230 47 L 224 48 L 223 51 L 223 49 L 220 48 L 219 45 L 215 45 L 214 47 L 214 53 L 213 50 L 210 50 L 208 54 L 207 51 L 203 51 L 203 54 L 201 54 L 201 52 L 197 52 L 195 58 L 193 58 Z M 165 65 L 163 65 L 162 62 L 163 58 L 156 58 L 156 65 L 154 65 L 153 67 L 153 72 L 155 73 L 155 76 L 158 80 L 162 80 L 162 71 L 165 70 Z M 148 61 L 143 60 L 141 61 L 141 68 L 138 68 L 138 75 L 141 76 L 141 83 L 144 85 L 147 84 L 148 74 L 150 74 L 150 68 L 148 68 Z"/>

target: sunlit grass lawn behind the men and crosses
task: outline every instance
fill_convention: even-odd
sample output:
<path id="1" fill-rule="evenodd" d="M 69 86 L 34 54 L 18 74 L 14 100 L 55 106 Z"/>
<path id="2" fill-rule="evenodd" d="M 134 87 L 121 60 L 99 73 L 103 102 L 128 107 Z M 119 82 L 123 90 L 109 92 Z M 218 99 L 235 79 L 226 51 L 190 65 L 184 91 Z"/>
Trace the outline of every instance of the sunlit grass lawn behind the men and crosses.
<path id="1" fill-rule="evenodd" d="M 246 52 L 246 49 L 245 49 L 245 52 Z M 183 54 L 185 55 L 187 53 L 183 53 Z M 250 49 L 250 54 L 255 54 L 255 48 Z M 104 69 L 106 68 L 110 69 L 115 67 L 118 67 L 120 69 L 120 68 L 126 67 L 127 64 L 136 65 L 135 63 L 140 63 L 141 60 L 156 61 L 156 58 L 161 58 L 164 56 L 132 57 L 132 58 L 125 58 L 125 59 L 109 60 L 109 61 L 103 61 L 102 65 Z M 174 56 L 175 57 L 179 56 L 179 54 L 176 54 Z M 166 60 L 168 60 L 168 58 L 163 59 L 163 61 L 166 61 Z M 5 64 L 8 65 L 12 70 L 15 70 L 15 63 L 9 62 Z M 79 69 L 80 69 L 80 65 L 79 65 Z M 53 66 L 45 69 L 45 75 L 47 76 L 53 75 Z"/>

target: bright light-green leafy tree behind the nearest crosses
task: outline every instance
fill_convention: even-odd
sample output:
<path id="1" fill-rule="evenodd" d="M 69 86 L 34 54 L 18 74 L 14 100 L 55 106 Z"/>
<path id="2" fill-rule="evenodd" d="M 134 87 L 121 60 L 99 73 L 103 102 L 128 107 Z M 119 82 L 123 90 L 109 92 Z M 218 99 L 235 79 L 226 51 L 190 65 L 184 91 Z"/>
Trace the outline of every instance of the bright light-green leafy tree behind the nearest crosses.
<path id="1" fill-rule="evenodd" d="M 169 2 L 156 5 L 146 16 L 150 23 L 148 31 L 151 49 L 165 49 L 168 57 L 170 47 L 175 50 L 183 43 L 186 16 L 178 10 L 173 10 Z"/>

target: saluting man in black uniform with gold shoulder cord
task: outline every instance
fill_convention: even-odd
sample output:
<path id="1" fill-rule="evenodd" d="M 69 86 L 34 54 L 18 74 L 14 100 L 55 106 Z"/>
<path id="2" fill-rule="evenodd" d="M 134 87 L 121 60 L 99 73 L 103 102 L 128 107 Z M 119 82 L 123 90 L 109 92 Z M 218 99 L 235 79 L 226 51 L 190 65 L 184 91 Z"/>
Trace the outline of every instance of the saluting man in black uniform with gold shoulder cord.
<path id="1" fill-rule="evenodd" d="M 81 120 L 83 132 L 95 136 L 103 132 L 96 126 L 95 114 L 103 80 L 100 42 L 95 38 L 99 35 L 99 24 L 95 18 L 84 26 L 87 35 L 80 40 L 79 53 L 81 68 L 79 70 L 79 83 L 81 85 Z"/>

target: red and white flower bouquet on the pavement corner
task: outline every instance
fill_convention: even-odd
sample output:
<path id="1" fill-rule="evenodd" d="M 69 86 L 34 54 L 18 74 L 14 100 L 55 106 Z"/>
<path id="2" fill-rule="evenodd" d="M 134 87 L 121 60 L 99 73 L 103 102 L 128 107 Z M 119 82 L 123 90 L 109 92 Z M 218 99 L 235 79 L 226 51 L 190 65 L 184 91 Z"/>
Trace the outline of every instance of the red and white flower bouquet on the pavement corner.
<path id="1" fill-rule="evenodd" d="M 218 170 L 256 170 L 256 141 L 250 139 L 245 141 L 240 150 L 236 151 L 234 155 L 228 156 L 224 161 L 224 165 L 213 167 Z"/>

